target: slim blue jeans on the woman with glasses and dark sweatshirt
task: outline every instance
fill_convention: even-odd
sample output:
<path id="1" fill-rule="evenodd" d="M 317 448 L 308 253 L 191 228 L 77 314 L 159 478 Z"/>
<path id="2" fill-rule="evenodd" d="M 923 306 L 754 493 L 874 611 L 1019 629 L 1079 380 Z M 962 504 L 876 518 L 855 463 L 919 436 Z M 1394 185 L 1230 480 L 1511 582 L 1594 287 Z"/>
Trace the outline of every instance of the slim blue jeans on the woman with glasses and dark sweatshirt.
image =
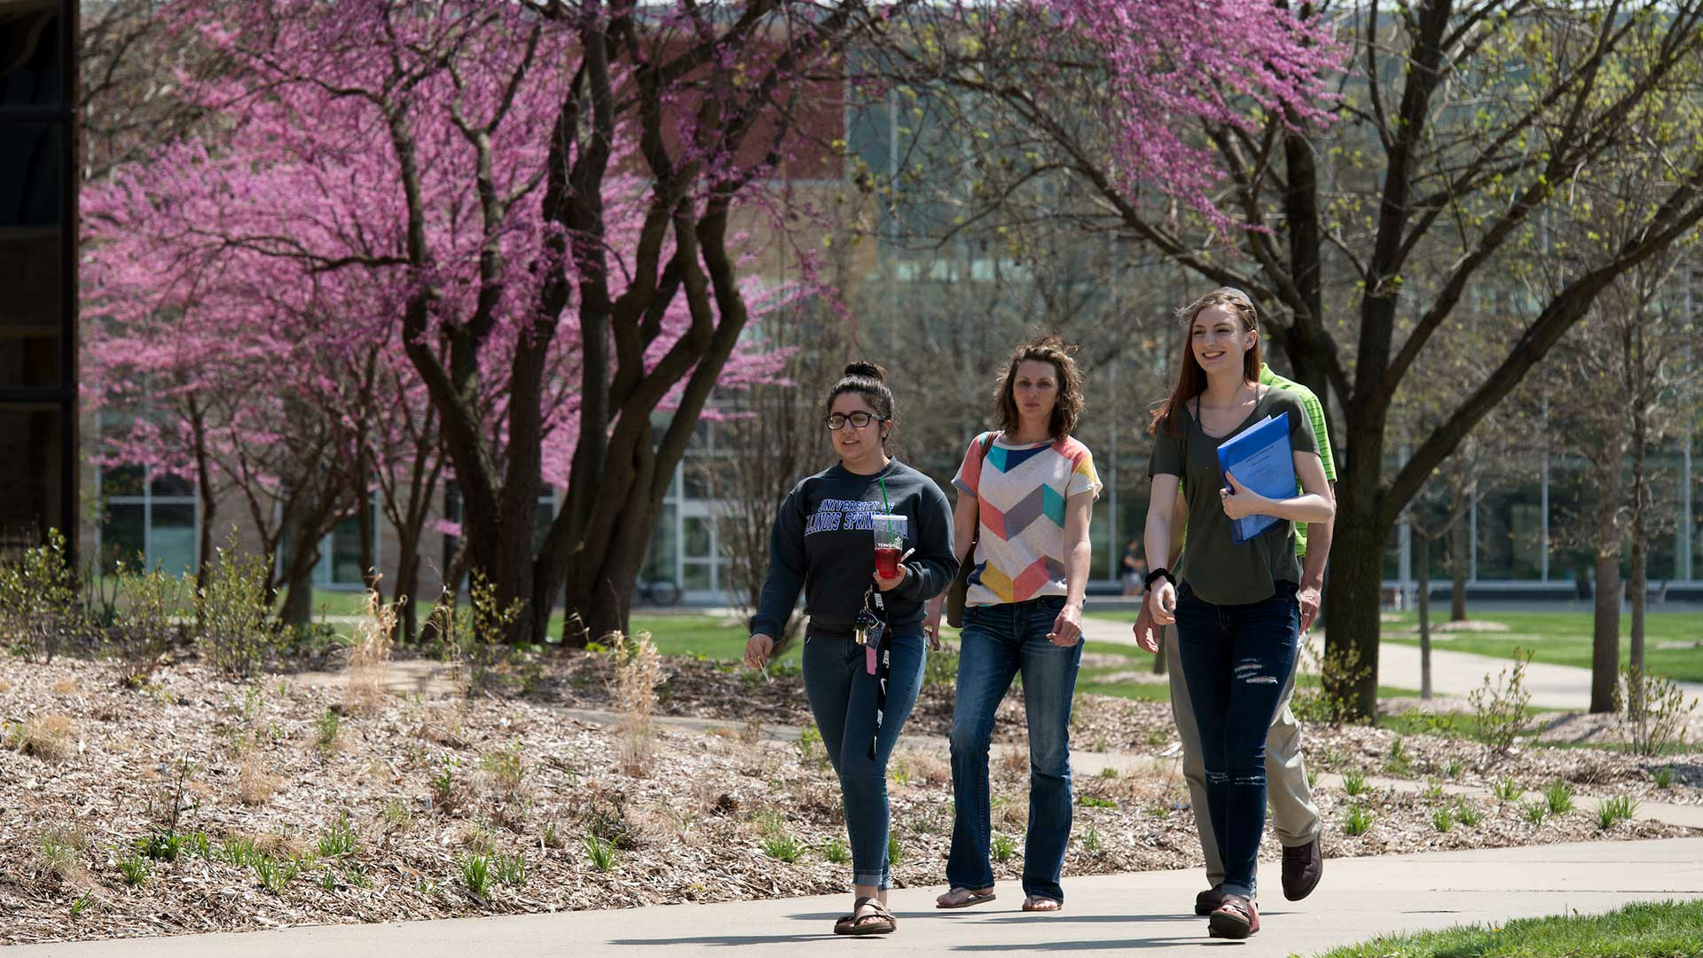
<path id="1" fill-rule="evenodd" d="M 923 687 L 923 626 L 901 626 L 889 639 L 892 668 L 887 711 L 875 733 L 875 677 L 865 670 L 865 646 L 841 636 L 804 636 L 804 697 L 823 733 L 828 760 L 840 776 L 840 799 L 852 842 L 852 883 L 887 888 L 887 759 Z"/>

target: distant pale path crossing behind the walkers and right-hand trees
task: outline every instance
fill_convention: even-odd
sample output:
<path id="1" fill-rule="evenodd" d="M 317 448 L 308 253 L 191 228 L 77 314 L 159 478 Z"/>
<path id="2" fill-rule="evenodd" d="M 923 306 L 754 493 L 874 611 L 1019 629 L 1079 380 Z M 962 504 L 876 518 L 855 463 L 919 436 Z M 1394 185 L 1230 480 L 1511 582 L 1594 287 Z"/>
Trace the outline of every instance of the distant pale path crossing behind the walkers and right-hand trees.
<path id="1" fill-rule="evenodd" d="M 1136 636 L 1129 622 L 1083 615 L 1081 631 L 1090 643 L 1136 644 Z M 1315 638 L 1323 641 L 1323 632 Z M 1431 685 L 1437 695 L 1466 695 L 1483 685 L 1485 675 L 1495 677 L 1502 670 L 1511 670 L 1511 667 L 1512 660 L 1509 658 L 1432 648 Z M 1419 689 L 1419 646 L 1379 643 L 1378 684 L 1396 689 Z M 1534 661 L 1526 667 L 1524 685 L 1531 692 L 1533 707 L 1575 711 L 1591 707 L 1589 668 Z M 1686 699 L 1703 701 L 1703 684 L 1679 682 L 1677 685 Z"/>

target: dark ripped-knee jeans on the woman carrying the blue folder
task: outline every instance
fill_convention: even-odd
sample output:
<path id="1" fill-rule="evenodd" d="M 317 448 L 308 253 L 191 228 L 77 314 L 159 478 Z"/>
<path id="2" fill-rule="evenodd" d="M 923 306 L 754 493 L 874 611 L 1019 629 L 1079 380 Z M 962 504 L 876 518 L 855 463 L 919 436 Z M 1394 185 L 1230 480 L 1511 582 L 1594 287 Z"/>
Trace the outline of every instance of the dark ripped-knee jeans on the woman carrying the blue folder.
<path id="1" fill-rule="evenodd" d="M 1224 859 L 1226 895 L 1255 892 L 1265 832 L 1265 736 L 1294 670 L 1301 605 L 1294 583 L 1250 605 L 1214 605 L 1177 590 L 1177 656 L 1201 730 L 1206 808 Z"/>

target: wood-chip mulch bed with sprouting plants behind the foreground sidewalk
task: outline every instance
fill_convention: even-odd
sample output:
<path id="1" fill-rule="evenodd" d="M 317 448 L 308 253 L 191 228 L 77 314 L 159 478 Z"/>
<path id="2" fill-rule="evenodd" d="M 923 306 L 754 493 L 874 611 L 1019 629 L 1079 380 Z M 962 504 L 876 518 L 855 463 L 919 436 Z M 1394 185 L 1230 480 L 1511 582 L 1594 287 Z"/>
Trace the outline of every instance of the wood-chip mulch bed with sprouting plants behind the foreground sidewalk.
<path id="1" fill-rule="evenodd" d="M 610 663 L 598 655 L 543 663 L 525 697 L 385 695 L 364 713 L 346 709 L 339 687 L 290 677 L 235 682 L 194 661 L 162 668 L 150 689 L 133 690 L 102 663 L 7 660 L 0 943 L 850 892 L 850 866 L 829 861 L 845 839 L 833 772 L 809 745 L 756 735 L 763 724 L 809 721 L 799 677 L 765 682 L 693 660 L 666 660 L 657 714 L 725 726 L 657 728 L 628 740 L 569 718 L 564 707 L 610 707 Z M 947 733 L 950 714 L 950 685 L 925 687 L 906 726 L 913 745 L 901 742 L 892 765 L 899 885 L 943 880 L 952 784 L 947 755 L 930 736 Z M 324 743 L 327 716 L 337 721 Z M 998 740 L 1022 736 L 1013 697 L 1001 707 Z M 1078 776 L 1087 803 L 1076 808 L 1066 874 L 1199 866 L 1168 707 L 1085 697 L 1073 736 L 1078 747 L 1151 760 L 1117 777 Z M 1393 738 L 1310 726 L 1308 755 L 1315 767 L 1383 776 Z M 1412 779 L 1458 762 L 1458 781 L 1468 784 L 1512 777 L 1536 789 L 1567 779 L 1594 794 L 1703 794 L 1696 755 L 1672 760 L 1679 776 L 1662 791 L 1650 782 L 1650 762 L 1611 752 L 1545 748 L 1492 762 L 1480 745 L 1431 735 L 1407 736 L 1403 750 L 1408 764 L 1396 770 Z M 184 851 L 128 883 L 119 863 L 133 857 L 138 839 L 165 830 L 179 786 L 186 808 L 175 834 L 204 834 L 209 854 Z M 1001 880 L 1015 880 L 1022 864 L 1025 789 L 1027 760 L 996 759 L 995 830 L 1015 844 L 995 864 Z M 1454 798 L 1373 791 L 1349 799 L 1327 788 L 1316 799 L 1327 857 L 1691 834 L 1655 822 L 1603 832 L 1591 808 L 1531 825 L 1517 805 L 1495 799 L 1471 803 L 1483 815 L 1477 827 L 1439 834 L 1432 815 L 1454 808 Z M 1344 834 L 1350 805 L 1371 815 L 1364 835 Z M 354 851 L 320 856 L 320 839 L 344 815 Z M 44 854 L 44 835 L 72 854 Z M 611 869 L 593 864 L 588 835 L 615 847 Z M 281 890 L 266 888 L 261 869 L 223 854 L 244 842 L 271 861 L 295 856 L 298 874 Z M 792 863 L 780 861 L 794 852 L 788 842 Z M 470 888 L 463 864 L 472 857 L 494 864 L 519 854 L 525 881 Z M 1277 859 L 1276 842 L 1265 859 Z"/>

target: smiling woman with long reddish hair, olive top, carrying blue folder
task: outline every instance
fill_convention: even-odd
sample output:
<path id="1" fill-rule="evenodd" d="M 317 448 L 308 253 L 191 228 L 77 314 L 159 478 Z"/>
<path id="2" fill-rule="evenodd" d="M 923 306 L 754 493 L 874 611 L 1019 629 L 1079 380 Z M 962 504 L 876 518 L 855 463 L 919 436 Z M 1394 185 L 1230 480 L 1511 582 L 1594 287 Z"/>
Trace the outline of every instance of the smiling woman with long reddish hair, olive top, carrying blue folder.
<path id="1" fill-rule="evenodd" d="M 1260 927 L 1255 863 L 1265 827 L 1265 743 L 1294 684 L 1308 581 L 1296 552 L 1296 523 L 1325 525 L 1335 505 L 1311 414 L 1293 392 L 1260 382 L 1269 370 L 1260 363 L 1252 300 L 1240 290 L 1219 288 L 1180 315 L 1177 385 L 1156 407 L 1151 426 L 1148 556 L 1178 556 L 1184 527 L 1192 535 L 1175 573 L 1148 573 L 1151 620 L 1136 622 L 1136 638 L 1158 651 L 1151 626 L 1177 624 L 1172 644 L 1180 668 L 1172 672 L 1182 675 L 1187 706 L 1173 702 L 1173 711 L 1180 723 L 1184 711 L 1194 719 L 1196 735 L 1180 731 L 1185 748 L 1194 740 L 1201 752 L 1199 791 L 1209 818 L 1201 828 L 1202 844 L 1211 840 L 1207 859 L 1216 854 L 1223 871 L 1221 881 L 1197 898 L 1196 910 L 1209 915 L 1214 938 L 1247 938 Z M 1277 414 L 1289 418 L 1299 484 L 1299 494 L 1287 499 L 1259 496 L 1218 465 L 1221 441 Z M 1250 515 L 1286 522 L 1235 544 L 1231 523 Z M 1325 549 L 1316 554 L 1322 573 Z M 1308 598 L 1316 614 L 1316 592 Z M 1197 820 L 1201 805 L 1197 793 Z M 1315 842 L 1306 847 L 1316 851 Z"/>

